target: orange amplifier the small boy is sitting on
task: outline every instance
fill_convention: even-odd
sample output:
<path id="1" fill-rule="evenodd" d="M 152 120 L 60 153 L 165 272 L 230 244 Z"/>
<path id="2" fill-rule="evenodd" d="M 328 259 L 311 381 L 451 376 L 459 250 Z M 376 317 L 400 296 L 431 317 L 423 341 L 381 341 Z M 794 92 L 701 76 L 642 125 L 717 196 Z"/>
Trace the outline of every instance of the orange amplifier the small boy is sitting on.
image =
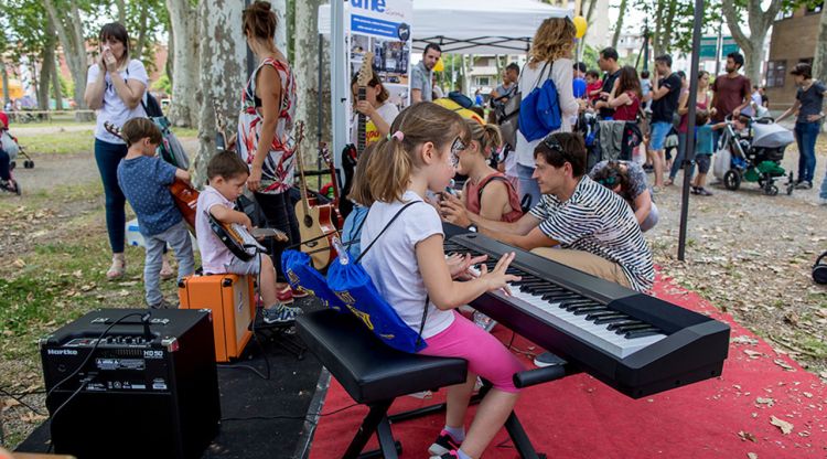
<path id="1" fill-rule="evenodd" d="M 235 274 L 185 277 L 178 285 L 181 309 L 211 309 L 215 361 L 228 362 L 244 352 L 256 317 L 253 278 Z"/>

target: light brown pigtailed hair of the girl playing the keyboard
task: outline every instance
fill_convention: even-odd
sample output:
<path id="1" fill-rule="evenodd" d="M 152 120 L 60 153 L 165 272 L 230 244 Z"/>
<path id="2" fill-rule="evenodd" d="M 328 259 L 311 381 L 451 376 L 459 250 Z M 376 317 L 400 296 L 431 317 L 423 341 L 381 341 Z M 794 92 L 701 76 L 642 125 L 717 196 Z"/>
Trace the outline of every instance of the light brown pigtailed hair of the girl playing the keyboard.
<path id="1" fill-rule="evenodd" d="M 359 161 L 358 168 L 364 169 L 362 180 L 354 182 L 351 198 L 362 205 L 401 201 L 411 173 L 422 166 L 417 148 L 432 142 L 441 150 L 457 137 L 468 145 L 471 136 L 466 126 L 455 111 L 430 102 L 404 109 L 390 125 L 390 132 L 400 131 L 401 136 L 379 139 L 364 158 L 366 161 Z"/>

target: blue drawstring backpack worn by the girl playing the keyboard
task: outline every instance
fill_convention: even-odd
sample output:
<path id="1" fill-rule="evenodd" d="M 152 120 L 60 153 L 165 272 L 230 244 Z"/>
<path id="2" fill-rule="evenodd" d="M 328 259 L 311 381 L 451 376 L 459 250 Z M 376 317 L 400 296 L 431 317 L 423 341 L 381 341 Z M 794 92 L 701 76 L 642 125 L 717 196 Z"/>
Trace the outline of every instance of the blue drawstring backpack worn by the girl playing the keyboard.
<path id="1" fill-rule="evenodd" d="M 365 268 L 359 265 L 362 257 L 382 237 L 385 231 L 409 206 L 420 201 L 405 204 L 374 238 L 370 245 L 362 252 L 356 261 L 351 261 L 345 250 L 327 268 L 327 287 L 339 297 L 339 300 L 385 344 L 402 351 L 415 353 L 427 346 L 422 340 L 422 329 L 428 316 L 428 297 L 425 300 L 425 312 L 419 333 L 411 330 L 396 313 L 396 310 L 382 297 Z"/>

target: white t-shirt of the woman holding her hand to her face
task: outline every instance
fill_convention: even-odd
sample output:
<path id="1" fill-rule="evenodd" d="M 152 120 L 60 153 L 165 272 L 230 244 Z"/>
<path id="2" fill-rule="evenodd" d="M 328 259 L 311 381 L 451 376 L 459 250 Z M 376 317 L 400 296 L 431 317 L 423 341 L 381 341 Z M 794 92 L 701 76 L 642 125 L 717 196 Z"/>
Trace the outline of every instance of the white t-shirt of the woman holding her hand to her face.
<path id="1" fill-rule="evenodd" d="M 86 85 L 93 85 L 100 75 L 100 67 L 98 64 L 93 64 L 86 74 Z M 132 118 L 139 118 L 147 116 L 141 104 L 138 104 L 132 109 L 129 109 L 123 100 L 121 100 L 118 93 L 115 92 L 112 85 L 111 74 L 106 74 L 106 88 L 104 89 L 104 106 L 97 110 L 97 126 L 95 126 L 95 138 L 109 143 L 126 143 L 123 140 L 109 134 L 104 128 L 104 122 L 109 121 L 117 127 L 123 126 L 125 122 Z M 120 77 L 123 79 L 137 79 L 143 83 L 144 88 L 148 87 L 149 76 L 147 76 L 147 70 L 143 68 L 143 63 L 138 60 L 129 61 L 127 68 L 120 72 Z"/>

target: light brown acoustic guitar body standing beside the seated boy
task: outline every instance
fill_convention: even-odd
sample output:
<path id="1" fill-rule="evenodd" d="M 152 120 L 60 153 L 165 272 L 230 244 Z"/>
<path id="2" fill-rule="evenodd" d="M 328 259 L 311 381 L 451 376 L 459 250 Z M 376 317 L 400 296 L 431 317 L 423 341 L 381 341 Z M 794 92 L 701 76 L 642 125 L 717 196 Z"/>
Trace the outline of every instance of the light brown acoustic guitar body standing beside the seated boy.
<path id="1" fill-rule="evenodd" d="M 299 221 L 299 235 L 302 241 L 301 252 L 310 255 L 313 267 L 319 270 L 330 266 L 336 257 L 333 237 L 339 233 L 333 225 L 334 213 L 335 209 L 331 204 L 305 207 L 301 201 L 296 203 L 296 218 Z"/>

